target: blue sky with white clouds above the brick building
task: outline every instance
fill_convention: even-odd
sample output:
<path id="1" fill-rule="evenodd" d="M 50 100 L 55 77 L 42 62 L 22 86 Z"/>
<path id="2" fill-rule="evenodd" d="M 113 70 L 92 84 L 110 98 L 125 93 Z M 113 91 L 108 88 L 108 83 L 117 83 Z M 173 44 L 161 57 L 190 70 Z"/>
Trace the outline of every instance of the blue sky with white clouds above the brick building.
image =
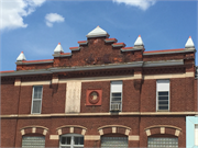
<path id="1" fill-rule="evenodd" d="M 0 0 L 0 70 L 15 70 L 21 52 L 28 60 L 53 59 L 58 43 L 65 53 L 86 41 L 97 25 L 110 37 L 145 50 L 184 48 L 189 36 L 197 48 L 197 1 Z M 197 53 L 196 53 L 197 54 Z M 196 65 L 198 61 L 196 60 Z"/>

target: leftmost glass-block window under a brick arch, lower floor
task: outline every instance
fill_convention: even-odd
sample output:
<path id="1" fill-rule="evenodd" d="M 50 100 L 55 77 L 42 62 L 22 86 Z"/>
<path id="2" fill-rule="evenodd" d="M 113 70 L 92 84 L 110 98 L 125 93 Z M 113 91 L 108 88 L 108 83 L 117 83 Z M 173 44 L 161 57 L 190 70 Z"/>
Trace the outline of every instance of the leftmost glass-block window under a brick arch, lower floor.
<path id="1" fill-rule="evenodd" d="M 45 148 L 45 137 L 23 136 L 22 148 Z"/>

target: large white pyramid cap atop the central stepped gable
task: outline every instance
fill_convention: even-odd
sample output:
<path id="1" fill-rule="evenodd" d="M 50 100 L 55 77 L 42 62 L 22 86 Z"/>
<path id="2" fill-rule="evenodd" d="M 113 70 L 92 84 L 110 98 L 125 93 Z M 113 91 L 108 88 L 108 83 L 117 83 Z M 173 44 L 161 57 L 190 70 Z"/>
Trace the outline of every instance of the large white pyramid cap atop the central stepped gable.
<path id="1" fill-rule="evenodd" d="M 109 34 L 98 25 L 95 30 L 89 32 L 86 36 L 90 38 L 90 37 L 109 36 Z"/>

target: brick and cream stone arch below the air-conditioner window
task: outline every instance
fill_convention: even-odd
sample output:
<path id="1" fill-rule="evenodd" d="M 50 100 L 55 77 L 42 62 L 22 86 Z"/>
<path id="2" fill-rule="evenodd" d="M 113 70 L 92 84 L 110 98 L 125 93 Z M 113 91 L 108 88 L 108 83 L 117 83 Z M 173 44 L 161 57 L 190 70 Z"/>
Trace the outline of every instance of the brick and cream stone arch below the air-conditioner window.
<path id="1" fill-rule="evenodd" d="M 106 134 L 122 134 L 129 136 L 131 128 L 123 125 L 106 125 L 98 128 L 100 136 Z"/>

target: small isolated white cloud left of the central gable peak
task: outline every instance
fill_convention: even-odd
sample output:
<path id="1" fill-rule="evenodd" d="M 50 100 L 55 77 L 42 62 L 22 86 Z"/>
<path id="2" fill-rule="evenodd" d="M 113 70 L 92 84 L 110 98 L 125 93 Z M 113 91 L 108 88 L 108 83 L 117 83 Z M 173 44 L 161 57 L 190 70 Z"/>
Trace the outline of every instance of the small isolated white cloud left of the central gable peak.
<path id="1" fill-rule="evenodd" d="M 53 23 L 57 22 L 64 22 L 65 18 L 63 18 L 62 15 L 57 14 L 57 13 L 48 13 L 45 15 L 45 21 L 46 21 L 46 25 L 52 27 Z"/>

